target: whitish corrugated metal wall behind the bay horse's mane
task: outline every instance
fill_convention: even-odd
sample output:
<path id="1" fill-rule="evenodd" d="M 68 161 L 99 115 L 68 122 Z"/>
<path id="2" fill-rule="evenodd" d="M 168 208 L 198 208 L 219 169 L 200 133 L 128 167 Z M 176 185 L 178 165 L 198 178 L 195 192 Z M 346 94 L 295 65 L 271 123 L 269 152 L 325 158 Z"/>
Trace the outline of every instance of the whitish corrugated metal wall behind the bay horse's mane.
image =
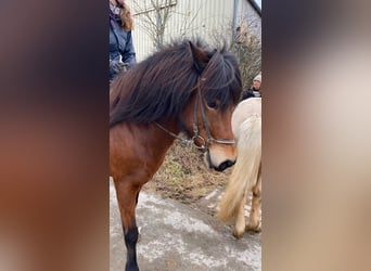
<path id="1" fill-rule="evenodd" d="M 144 4 L 138 9 L 138 4 Z M 247 2 L 247 1 L 246 1 Z M 136 28 L 132 31 L 137 60 L 142 61 L 155 51 L 153 40 L 143 25 L 143 12 L 149 0 L 128 0 Z M 172 12 L 165 30 L 165 42 L 181 37 L 202 37 L 209 43 L 230 41 L 233 24 L 233 0 L 172 0 Z M 151 13 L 151 11 L 149 11 Z M 153 12 L 152 12 L 153 13 Z"/>

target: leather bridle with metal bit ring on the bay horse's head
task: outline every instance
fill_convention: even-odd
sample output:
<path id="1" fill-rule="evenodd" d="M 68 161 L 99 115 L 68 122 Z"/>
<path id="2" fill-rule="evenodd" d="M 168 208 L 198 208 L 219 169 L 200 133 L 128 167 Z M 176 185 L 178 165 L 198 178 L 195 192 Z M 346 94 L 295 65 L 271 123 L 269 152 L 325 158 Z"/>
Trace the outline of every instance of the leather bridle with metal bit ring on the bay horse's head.
<path id="1" fill-rule="evenodd" d="M 205 106 L 203 104 L 202 101 L 202 95 L 201 95 L 201 80 L 205 80 L 205 79 L 200 79 L 197 80 L 197 98 L 196 101 L 194 103 L 194 111 L 193 111 L 193 137 L 191 139 L 184 139 L 184 138 L 180 138 L 177 134 L 175 134 L 174 132 L 169 131 L 168 129 L 166 129 L 165 127 L 163 127 L 162 125 L 159 125 L 158 122 L 155 122 L 155 125 L 162 129 L 163 131 L 165 131 L 166 133 L 168 133 L 169 136 L 171 136 L 172 138 L 176 138 L 182 142 L 186 142 L 188 144 L 194 144 L 195 147 L 197 147 L 199 150 L 202 151 L 206 151 L 208 154 L 208 158 L 209 158 L 209 145 L 213 143 L 217 143 L 217 144 L 227 144 L 227 145 L 231 145 L 234 144 L 234 140 L 226 140 L 226 139 L 215 139 L 213 138 L 212 133 L 210 133 L 210 129 L 208 126 L 208 121 L 207 121 L 207 117 L 206 117 L 206 113 L 205 113 Z M 204 139 L 199 130 L 199 119 L 197 119 L 197 109 L 199 109 L 199 103 L 201 105 L 201 117 L 202 117 L 202 124 L 205 128 L 206 131 L 206 137 L 207 139 Z M 195 141 L 196 140 L 201 140 L 202 144 L 201 146 L 196 145 Z"/>

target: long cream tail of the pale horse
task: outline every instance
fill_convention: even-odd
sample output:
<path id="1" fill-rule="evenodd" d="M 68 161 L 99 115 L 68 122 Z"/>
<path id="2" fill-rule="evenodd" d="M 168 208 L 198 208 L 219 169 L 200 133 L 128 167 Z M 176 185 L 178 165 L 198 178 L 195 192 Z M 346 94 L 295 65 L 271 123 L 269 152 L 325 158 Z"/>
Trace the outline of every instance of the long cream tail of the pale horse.
<path id="1" fill-rule="evenodd" d="M 217 218 L 227 223 L 235 222 L 244 194 L 252 191 L 257 182 L 261 163 L 261 117 L 244 120 L 234 137 L 238 159 L 217 214 Z"/>

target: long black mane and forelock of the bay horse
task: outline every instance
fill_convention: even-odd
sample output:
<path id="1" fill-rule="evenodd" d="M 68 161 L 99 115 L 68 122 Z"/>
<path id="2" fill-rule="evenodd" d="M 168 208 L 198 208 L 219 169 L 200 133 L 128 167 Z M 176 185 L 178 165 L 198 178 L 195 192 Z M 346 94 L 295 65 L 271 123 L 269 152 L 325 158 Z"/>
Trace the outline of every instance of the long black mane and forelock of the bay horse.
<path id="1" fill-rule="evenodd" d="M 202 61 L 195 57 L 194 48 L 203 52 Z M 201 40 L 177 41 L 112 82 L 110 127 L 120 121 L 176 119 L 196 89 L 200 76 L 206 102 L 219 100 L 220 109 L 238 103 L 242 82 L 235 56 L 226 48 L 210 50 Z"/>

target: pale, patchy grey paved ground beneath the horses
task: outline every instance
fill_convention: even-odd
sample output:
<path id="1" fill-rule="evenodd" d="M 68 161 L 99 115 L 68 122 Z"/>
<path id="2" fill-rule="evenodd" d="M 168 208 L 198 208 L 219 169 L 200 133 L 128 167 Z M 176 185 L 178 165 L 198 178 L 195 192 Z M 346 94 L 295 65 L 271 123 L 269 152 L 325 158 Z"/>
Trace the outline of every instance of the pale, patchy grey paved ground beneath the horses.
<path id="1" fill-rule="evenodd" d="M 110 185 L 110 271 L 123 271 L 126 247 L 115 190 Z M 203 201 L 214 206 L 216 194 Z M 231 228 L 188 205 L 141 192 L 137 224 L 141 228 L 137 245 L 141 271 L 261 270 L 260 234 L 246 233 L 235 240 Z"/>

